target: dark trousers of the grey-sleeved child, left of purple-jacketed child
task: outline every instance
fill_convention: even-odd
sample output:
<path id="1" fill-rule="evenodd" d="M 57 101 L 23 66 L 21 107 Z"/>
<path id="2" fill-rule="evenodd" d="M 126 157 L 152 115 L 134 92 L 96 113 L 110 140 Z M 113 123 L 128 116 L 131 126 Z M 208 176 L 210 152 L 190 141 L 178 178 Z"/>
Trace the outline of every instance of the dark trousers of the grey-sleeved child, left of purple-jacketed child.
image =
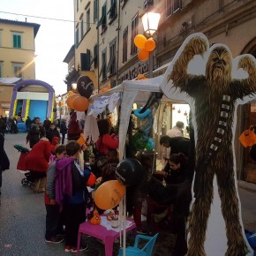
<path id="1" fill-rule="evenodd" d="M 56 235 L 63 234 L 64 212 L 59 212 L 59 205 L 45 205 L 45 239 L 49 240 Z"/>

